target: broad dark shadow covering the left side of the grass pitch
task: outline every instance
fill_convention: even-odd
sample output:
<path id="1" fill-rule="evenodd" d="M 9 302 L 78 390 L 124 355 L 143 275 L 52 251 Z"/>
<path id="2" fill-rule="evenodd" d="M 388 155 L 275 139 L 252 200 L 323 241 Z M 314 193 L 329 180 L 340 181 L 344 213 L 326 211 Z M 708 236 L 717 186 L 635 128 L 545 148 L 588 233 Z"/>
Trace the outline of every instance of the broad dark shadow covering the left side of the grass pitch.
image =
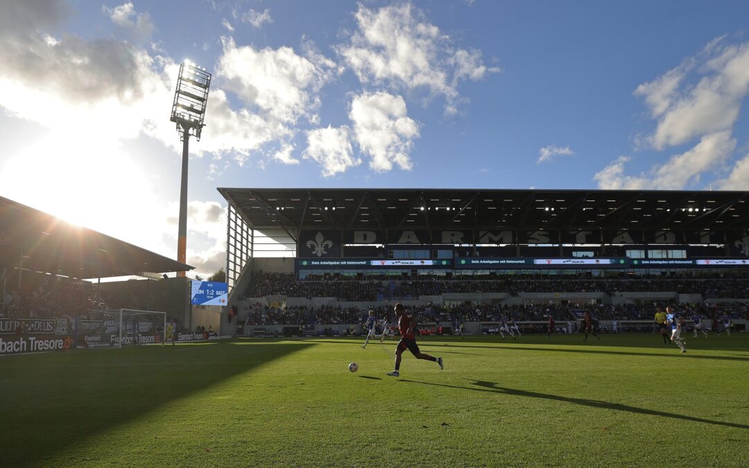
<path id="1" fill-rule="evenodd" d="M 201 351 L 178 344 L 4 359 L 0 465 L 59 464 L 66 450 L 88 437 L 312 345 L 201 346 Z M 177 352 L 187 349 L 195 350 Z"/>

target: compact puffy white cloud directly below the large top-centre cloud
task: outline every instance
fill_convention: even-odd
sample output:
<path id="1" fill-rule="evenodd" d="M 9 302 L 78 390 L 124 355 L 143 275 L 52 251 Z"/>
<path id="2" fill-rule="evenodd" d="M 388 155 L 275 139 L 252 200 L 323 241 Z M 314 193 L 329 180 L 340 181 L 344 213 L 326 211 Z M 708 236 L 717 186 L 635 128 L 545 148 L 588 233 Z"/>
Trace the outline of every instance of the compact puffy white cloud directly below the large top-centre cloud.
<path id="1" fill-rule="evenodd" d="M 385 92 L 355 96 L 348 117 L 354 122 L 354 136 L 364 154 L 372 159 L 369 167 L 389 171 L 392 164 L 413 168 L 409 152 L 413 139 L 419 138 L 419 125 L 407 116 L 400 96 Z"/>

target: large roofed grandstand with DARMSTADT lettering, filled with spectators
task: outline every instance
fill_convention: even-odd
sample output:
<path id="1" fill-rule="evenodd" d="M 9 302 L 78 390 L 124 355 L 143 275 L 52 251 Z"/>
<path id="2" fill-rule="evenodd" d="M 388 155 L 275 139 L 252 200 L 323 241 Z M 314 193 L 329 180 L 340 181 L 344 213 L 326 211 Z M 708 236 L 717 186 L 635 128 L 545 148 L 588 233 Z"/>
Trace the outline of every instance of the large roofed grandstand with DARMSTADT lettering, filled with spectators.
<path id="1" fill-rule="evenodd" d="M 747 192 L 219 188 L 222 335 L 358 333 L 404 303 L 424 332 L 550 316 L 651 331 L 656 306 L 749 317 Z"/>

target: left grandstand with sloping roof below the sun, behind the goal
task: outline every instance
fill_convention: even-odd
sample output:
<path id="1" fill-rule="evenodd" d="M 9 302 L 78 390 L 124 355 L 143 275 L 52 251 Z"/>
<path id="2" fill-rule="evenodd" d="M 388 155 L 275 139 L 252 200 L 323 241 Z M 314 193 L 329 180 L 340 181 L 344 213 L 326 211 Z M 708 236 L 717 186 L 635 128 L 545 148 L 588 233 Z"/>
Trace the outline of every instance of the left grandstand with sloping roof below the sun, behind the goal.
<path id="1" fill-rule="evenodd" d="M 192 267 L 0 197 L 0 335 L 19 329 L 70 335 L 73 323 L 100 322 L 118 309 L 161 311 L 189 325 L 189 280 L 164 277 L 187 270 Z M 148 279 L 101 282 L 121 276 Z"/>

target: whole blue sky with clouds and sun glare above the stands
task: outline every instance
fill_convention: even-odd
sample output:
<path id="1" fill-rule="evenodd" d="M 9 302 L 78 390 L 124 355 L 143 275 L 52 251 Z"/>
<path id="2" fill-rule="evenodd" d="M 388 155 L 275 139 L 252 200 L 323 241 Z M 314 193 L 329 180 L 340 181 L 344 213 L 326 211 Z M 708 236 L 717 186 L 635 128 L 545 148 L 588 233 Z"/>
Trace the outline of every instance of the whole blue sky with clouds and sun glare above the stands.
<path id="1" fill-rule="evenodd" d="M 176 12 L 180 12 L 179 14 Z M 0 195 L 175 256 L 178 64 L 213 73 L 217 186 L 747 189 L 744 1 L 13 1 Z"/>

